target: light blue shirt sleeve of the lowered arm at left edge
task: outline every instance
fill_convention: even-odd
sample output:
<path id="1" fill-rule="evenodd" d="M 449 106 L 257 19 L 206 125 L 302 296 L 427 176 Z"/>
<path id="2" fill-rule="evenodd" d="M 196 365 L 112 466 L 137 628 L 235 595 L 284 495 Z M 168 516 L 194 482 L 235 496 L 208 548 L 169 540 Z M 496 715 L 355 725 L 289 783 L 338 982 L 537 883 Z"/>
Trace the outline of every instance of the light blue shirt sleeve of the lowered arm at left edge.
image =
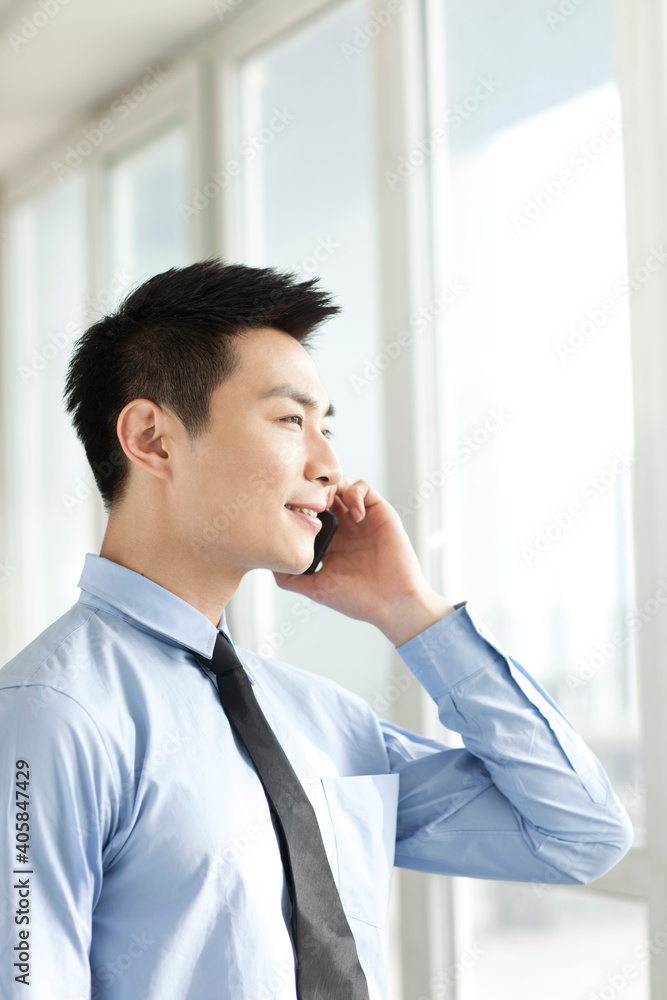
<path id="1" fill-rule="evenodd" d="M 85 709 L 43 684 L 0 690 L 0 733 L 0 994 L 95 1000 L 93 910 L 117 802 L 109 756 Z"/>

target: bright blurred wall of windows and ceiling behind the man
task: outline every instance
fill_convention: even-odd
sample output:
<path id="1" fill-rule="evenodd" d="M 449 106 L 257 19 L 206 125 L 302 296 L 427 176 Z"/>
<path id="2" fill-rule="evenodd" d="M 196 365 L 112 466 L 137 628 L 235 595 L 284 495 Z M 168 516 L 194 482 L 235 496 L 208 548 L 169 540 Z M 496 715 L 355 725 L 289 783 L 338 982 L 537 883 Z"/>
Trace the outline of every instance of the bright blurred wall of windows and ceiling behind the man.
<path id="1" fill-rule="evenodd" d="M 0 36 L 0 663 L 104 534 L 61 401 L 76 338 L 212 254 L 320 277 L 346 474 L 636 829 L 586 887 L 395 869 L 390 1000 L 664 1000 L 665 0 L 0 0 Z M 461 745 L 372 627 L 264 570 L 228 616 Z"/>

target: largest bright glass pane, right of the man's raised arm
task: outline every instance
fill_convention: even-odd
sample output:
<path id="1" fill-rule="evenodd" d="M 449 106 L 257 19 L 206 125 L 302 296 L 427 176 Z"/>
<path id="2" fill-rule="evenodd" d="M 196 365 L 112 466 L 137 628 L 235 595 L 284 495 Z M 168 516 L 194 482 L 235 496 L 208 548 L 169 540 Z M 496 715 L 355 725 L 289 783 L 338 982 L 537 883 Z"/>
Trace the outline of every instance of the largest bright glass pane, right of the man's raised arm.
<path id="1" fill-rule="evenodd" d="M 628 300 L 660 261 L 627 274 L 611 2 L 570 6 L 446 5 L 449 570 L 641 834 Z"/>

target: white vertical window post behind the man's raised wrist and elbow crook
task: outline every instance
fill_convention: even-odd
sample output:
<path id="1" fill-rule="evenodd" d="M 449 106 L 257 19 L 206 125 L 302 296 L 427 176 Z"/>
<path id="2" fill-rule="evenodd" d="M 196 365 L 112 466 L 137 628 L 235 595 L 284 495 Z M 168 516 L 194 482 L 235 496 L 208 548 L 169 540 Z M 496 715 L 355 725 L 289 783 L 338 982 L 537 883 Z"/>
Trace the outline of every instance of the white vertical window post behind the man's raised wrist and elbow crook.
<path id="1" fill-rule="evenodd" d="M 375 2 L 372 9 L 383 4 Z M 385 431 L 388 499 L 405 505 L 429 471 L 439 464 L 439 420 L 433 419 L 440 400 L 429 376 L 433 372 L 433 331 L 415 332 L 415 310 L 434 297 L 434 268 L 429 224 L 430 169 L 416 169 L 405 179 L 396 174 L 426 132 L 427 94 L 424 64 L 427 32 L 421 4 L 404 7 L 374 41 L 377 190 L 381 227 L 382 333 L 391 341 L 411 331 L 409 348 L 385 371 Z M 416 155 L 416 154 L 415 154 Z M 416 159 L 419 156 L 416 155 Z M 426 159 L 426 157 L 425 157 Z M 408 160 L 408 162 L 410 162 Z M 406 172 L 407 168 L 404 168 Z M 400 176 L 400 174 L 399 174 Z M 399 402 L 400 401 L 400 405 Z M 431 419 L 429 419 L 431 418 Z M 427 428 L 433 429 L 427 432 Z M 402 443 L 402 444 L 401 444 Z M 443 590 L 441 496 L 437 493 L 404 520 L 405 528 L 431 584 Z M 404 670 L 394 654 L 392 669 Z M 418 685 L 396 705 L 395 721 L 415 732 L 442 737 L 431 699 Z M 451 879 L 397 869 L 400 893 L 402 983 L 405 997 L 431 996 L 431 983 L 455 962 L 454 891 Z M 455 1000 L 455 985 L 449 996 Z"/>

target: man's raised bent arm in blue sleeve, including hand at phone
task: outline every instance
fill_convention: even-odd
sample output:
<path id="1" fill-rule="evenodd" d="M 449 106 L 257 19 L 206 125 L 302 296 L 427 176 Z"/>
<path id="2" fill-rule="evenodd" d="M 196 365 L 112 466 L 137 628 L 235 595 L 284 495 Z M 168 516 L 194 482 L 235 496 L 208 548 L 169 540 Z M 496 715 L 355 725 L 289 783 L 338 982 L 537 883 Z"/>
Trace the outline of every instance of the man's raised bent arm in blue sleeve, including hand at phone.
<path id="1" fill-rule="evenodd" d="M 429 586 L 397 511 L 344 477 L 322 569 L 274 573 L 287 590 L 370 622 L 398 648 L 464 749 L 383 722 L 400 774 L 396 863 L 423 871 L 587 882 L 632 827 L 597 758 L 549 695 L 465 605 Z"/>

